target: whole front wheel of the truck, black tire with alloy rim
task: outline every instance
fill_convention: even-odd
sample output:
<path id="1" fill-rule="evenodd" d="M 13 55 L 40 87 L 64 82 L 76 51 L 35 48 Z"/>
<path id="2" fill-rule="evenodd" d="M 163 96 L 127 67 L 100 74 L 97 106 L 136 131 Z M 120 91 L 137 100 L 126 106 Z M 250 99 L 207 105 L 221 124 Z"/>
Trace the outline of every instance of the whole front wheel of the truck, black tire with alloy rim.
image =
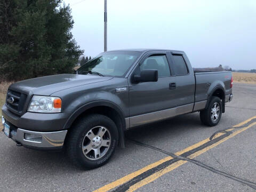
<path id="1" fill-rule="evenodd" d="M 67 153 L 71 161 L 84 169 L 99 167 L 114 154 L 118 142 L 115 123 L 104 115 L 81 119 L 71 128 Z"/>

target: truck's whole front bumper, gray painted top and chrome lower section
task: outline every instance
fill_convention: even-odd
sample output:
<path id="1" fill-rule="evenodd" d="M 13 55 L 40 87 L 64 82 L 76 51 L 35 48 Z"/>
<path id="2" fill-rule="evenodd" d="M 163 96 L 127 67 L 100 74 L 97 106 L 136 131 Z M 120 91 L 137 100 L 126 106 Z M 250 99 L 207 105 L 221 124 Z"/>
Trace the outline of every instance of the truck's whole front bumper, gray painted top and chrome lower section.
<path id="1" fill-rule="evenodd" d="M 25 113 L 17 116 L 6 105 L 2 108 L 2 121 L 10 126 L 9 137 L 22 146 L 34 149 L 62 148 L 67 130 L 64 130 L 70 113 Z"/>

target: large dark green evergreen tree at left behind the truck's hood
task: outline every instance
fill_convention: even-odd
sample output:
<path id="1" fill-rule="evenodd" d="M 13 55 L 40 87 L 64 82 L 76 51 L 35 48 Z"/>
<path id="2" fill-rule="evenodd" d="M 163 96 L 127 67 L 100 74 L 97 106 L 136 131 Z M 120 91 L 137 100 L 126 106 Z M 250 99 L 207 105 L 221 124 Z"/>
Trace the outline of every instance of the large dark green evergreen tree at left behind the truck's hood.
<path id="1" fill-rule="evenodd" d="M 61 0 L 0 0 L 0 77 L 71 73 L 83 51 L 70 12 Z"/>

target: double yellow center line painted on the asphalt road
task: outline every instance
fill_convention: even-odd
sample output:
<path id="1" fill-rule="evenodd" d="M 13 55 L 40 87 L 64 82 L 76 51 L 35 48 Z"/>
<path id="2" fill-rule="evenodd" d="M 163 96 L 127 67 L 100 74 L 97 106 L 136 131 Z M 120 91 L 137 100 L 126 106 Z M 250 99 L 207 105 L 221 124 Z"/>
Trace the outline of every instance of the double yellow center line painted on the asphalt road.
<path id="1" fill-rule="evenodd" d="M 254 117 L 251 117 L 251 118 L 249 118 L 249 119 L 247 119 L 246 121 L 244 121 L 244 122 L 241 122 L 241 123 L 239 123 L 239 124 L 237 124 L 237 125 L 234 125 L 233 127 L 239 127 L 239 126 L 242 126 L 242 125 L 244 125 L 244 124 L 246 124 L 246 123 L 248 123 L 248 122 L 250 122 L 252 119 L 254 119 L 254 118 L 256 118 L 256 116 L 254 116 Z M 252 126 L 252 125 L 251 125 Z M 247 127 L 247 129 L 248 129 L 249 127 Z M 243 129 L 245 129 L 245 127 L 243 128 Z M 234 130 L 234 128 L 231 128 L 231 129 L 229 129 L 229 130 L 226 130 L 226 131 L 232 131 L 232 130 Z M 242 129 L 241 129 L 242 130 Z M 241 130 L 238 130 L 238 131 L 241 131 Z M 246 129 L 245 129 L 246 130 Z M 244 130 L 243 130 L 244 131 Z M 242 131 L 241 131 L 242 132 Z M 236 133 L 236 132 L 235 132 Z M 231 134 L 231 135 L 233 135 L 232 137 L 234 137 L 236 134 L 238 134 L 238 133 L 233 133 L 233 134 Z M 219 138 L 219 137 L 223 137 L 223 135 L 224 135 L 225 133 L 218 133 L 217 135 L 214 135 L 214 138 L 213 139 L 217 139 L 217 138 Z M 235 134 L 235 135 L 234 135 Z M 228 137 L 230 137 L 230 135 L 228 136 Z M 228 138 L 228 137 L 226 137 L 226 138 Z M 226 139 L 227 140 L 227 139 Z M 225 140 L 225 141 L 226 141 Z M 203 146 L 203 145 L 205 145 L 205 143 L 207 143 L 207 142 L 209 142 L 210 141 L 210 138 L 207 138 L 207 139 L 205 139 L 205 140 L 203 140 L 203 141 L 200 141 L 200 142 L 198 142 L 198 143 L 196 143 L 196 144 L 194 144 L 194 145 L 192 145 L 192 146 L 189 146 L 189 147 L 187 147 L 186 149 L 183 149 L 183 150 L 181 150 L 181 151 L 179 151 L 179 152 L 177 152 L 177 153 L 175 153 L 175 155 L 181 155 L 181 154 L 185 154 L 185 153 L 187 153 L 188 151 L 193 151 L 194 149 L 196 149 L 196 148 L 198 148 L 198 147 L 200 147 L 200 146 Z M 222 141 L 222 140 L 221 140 Z M 218 141 L 218 142 L 220 142 L 220 141 Z M 218 142 L 216 142 L 216 143 L 218 143 Z M 222 141 L 223 142 L 223 141 Z M 214 143 L 215 144 L 215 143 Z M 218 144 L 219 145 L 219 144 Z M 214 145 L 214 147 L 215 146 L 217 146 L 217 145 Z M 208 148 L 209 148 L 210 146 L 208 146 Z M 207 148 L 207 147 L 206 147 Z M 204 148 L 205 149 L 205 148 Z M 204 151 L 204 149 L 202 149 L 202 153 L 204 153 L 205 151 L 207 151 L 207 150 L 209 150 L 209 149 L 211 149 L 211 148 L 209 148 L 209 149 L 207 149 L 207 150 L 205 150 Z M 199 151 L 201 151 L 201 150 L 199 150 Z M 199 151 L 197 151 L 195 154 L 198 154 L 198 155 L 200 155 L 199 154 Z M 193 155 L 193 154 L 191 154 L 191 155 Z M 198 156 L 197 155 L 197 156 Z M 189 157 L 189 158 L 194 158 L 194 157 Z M 124 183 L 126 183 L 126 182 L 128 182 L 128 181 L 130 181 L 130 180 L 132 180 L 133 178 L 135 178 L 135 177 L 138 177 L 139 175 L 141 175 L 141 174 L 143 174 L 143 173 L 145 173 L 145 172 L 147 172 L 147 171 L 150 171 L 151 169 L 155 169 L 155 167 L 157 167 L 157 166 L 161 166 L 161 164 L 163 164 L 163 163 L 166 163 L 166 162 L 171 162 L 171 160 L 172 160 L 173 158 L 171 157 L 171 156 L 168 156 L 168 157 L 165 157 L 165 158 L 163 158 L 163 159 L 161 159 L 161 160 L 159 160 L 159 161 L 157 161 L 157 162 L 155 162 L 155 163 L 152 163 L 152 164 L 149 164 L 149 165 L 147 165 L 147 166 L 145 166 L 145 167 L 143 167 L 142 169 L 140 169 L 140 170 L 138 170 L 138 171 L 135 171 L 135 172 L 132 172 L 132 173 L 130 173 L 130 174 L 128 174 L 128 175 L 126 175 L 126 176 L 124 176 L 123 178 L 121 178 L 121 179 L 118 179 L 118 180 L 116 180 L 116 181 L 114 181 L 114 182 L 111 182 L 111 183 L 109 183 L 109 184 L 107 184 L 107 185 L 105 185 L 105 186 L 103 186 L 103 187 L 101 187 L 101 188 L 99 188 L 99 189 L 97 189 L 97 190 L 95 190 L 94 192 L 103 192 L 103 191 L 108 191 L 108 190 L 110 190 L 110 189 L 113 189 L 113 188 L 115 188 L 115 187 L 117 187 L 117 186 L 119 186 L 119 185 L 123 185 Z M 169 165 L 169 166 L 167 166 L 167 167 L 165 167 L 164 168 L 164 174 L 165 173 L 167 173 L 167 172 L 170 172 L 170 171 L 172 171 L 173 169 L 175 169 L 175 168 L 177 168 L 178 166 L 180 166 L 180 165 L 182 165 L 182 164 L 184 164 L 184 163 L 186 163 L 187 161 L 178 161 L 178 162 L 174 162 L 173 164 L 171 164 L 171 165 Z M 163 170 L 161 170 L 160 172 L 162 172 Z M 154 176 L 152 176 L 152 175 L 155 175 L 156 176 L 156 178 L 155 179 L 157 179 L 158 177 L 157 177 L 157 175 L 159 175 L 159 173 L 154 173 L 154 174 L 151 174 L 149 177 L 147 177 L 148 178 L 148 181 L 150 181 L 150 179 L 154 179 Z M 161 175 L 159 175 L 159 177 L 160 177 Z M 147 179 L 146 178 L 146 179 Z M 154 180 L 155 180 L 154 179 Z M 142 181 L 139 181 L 139 182 L 141 182 L 141 184 L 142 184 Z M 138 182 L 138 183 L 139 183 Z M 151 182 L 151 181 L 150 181 Z M 146 183 L 148 183 L 148 182 L 146 182 Z M 135 185 L 137 185 L 137 187 L 139 186 L 139 184 L 135 184 Z M 146 185 L 146 184 L 145 184 Z M 135 186 L 134 186 L 135 187 Z M 135 190 L 135 189 L 134 189 Z"/>

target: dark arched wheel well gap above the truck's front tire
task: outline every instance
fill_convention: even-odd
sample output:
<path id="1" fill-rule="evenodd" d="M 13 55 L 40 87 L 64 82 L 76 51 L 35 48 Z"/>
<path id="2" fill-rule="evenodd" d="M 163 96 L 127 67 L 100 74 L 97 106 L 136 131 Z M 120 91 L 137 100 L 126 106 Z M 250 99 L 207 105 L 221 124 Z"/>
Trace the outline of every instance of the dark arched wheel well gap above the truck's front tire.
<path id="1" fill-rule="evenodd" d="M 124 120 L 122 119 L 121 115 L 113 108 L 108 106 L 97 106 L 92 107 L 90 109 L 85 110 L 82 114 L 80 114 L 76 119 L 73 121 L 73 123 L 70 125 L 69 129 L 72 129 L 72 125 L 74 125 L 76 122 L 79 121 L 79 119 L 85 117 L 89 114 L 101 114 L 109 117 L 117 126 L 118 134 L 119 134 L 119 142 L 121 143 L 121 147 L 124 147 L 124 129 L 125 124 Z M 67 138 L 67 137 L 66 137 Z"/>

